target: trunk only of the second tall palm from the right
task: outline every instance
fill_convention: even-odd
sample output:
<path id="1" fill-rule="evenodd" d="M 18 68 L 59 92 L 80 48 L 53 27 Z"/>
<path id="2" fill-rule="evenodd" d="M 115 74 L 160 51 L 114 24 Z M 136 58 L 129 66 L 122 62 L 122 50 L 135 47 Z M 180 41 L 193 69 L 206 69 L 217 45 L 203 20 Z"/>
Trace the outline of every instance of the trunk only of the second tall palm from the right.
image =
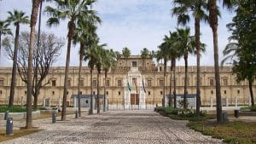
<path id="1" fill-rule="evenodd" d="M 200 116 L 201 91 L 200 91 L 200 19 L 195 17 L 195 47 L 196 47 L 196 116 Z"/>

